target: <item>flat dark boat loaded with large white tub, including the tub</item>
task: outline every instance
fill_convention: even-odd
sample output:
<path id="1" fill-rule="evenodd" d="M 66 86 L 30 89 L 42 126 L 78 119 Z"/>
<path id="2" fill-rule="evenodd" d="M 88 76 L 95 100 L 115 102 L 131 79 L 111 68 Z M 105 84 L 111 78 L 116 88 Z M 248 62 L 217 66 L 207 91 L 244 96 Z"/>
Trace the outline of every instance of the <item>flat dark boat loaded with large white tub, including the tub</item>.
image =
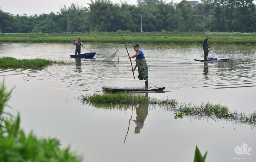
<path id="1" fill-rule="evenodd" d="M 124 91 L 159 91 L 165 89 L 165 87 L 149 87 L 145 90 L 145 80 L 139 79 L 125 79 L 125 78 L 102 78 L 102 89 L 110 90 L 113 92 Z"/>

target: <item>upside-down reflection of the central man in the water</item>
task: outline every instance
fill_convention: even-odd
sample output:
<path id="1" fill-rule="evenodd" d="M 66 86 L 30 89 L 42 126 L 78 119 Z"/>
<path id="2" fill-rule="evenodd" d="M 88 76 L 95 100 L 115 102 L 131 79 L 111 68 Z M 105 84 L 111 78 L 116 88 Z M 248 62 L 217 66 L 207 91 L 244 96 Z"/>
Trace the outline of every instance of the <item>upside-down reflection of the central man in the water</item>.
<path id="1" fill-rule="evenodd" d="M 144 121 L 148 115 L 148 104 L 140 105 L 136 108 L 136 120 L 132 120 L 135 122 L 136 127 L 134 133 L 140 133 L 140 129 L 144 126 Z"/>

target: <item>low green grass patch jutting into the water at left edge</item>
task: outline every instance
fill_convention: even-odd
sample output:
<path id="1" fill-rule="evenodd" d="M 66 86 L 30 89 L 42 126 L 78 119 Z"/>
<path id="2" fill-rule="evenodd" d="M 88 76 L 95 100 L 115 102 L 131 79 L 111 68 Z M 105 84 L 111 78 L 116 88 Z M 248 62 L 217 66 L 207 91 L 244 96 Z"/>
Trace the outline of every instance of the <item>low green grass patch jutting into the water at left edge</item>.
<path id="1" fill-rule="evenodd" d="M 13 57 L 2 57 L 0 58 L 0 68 L 21 68 L 23 64 L 24 59 L 16 59 Z M 34 66 L 50 66 L 52 64 L 60 64 L 60 65 L 68 65 L 69 63 L 64 61 L 52 61 L 42 58 L 36 58 L 36 59 L 26 59 L 30 64 L 33 64 Z M 30 67 L 26 62 L 24 62 L 23 67 Z"/>

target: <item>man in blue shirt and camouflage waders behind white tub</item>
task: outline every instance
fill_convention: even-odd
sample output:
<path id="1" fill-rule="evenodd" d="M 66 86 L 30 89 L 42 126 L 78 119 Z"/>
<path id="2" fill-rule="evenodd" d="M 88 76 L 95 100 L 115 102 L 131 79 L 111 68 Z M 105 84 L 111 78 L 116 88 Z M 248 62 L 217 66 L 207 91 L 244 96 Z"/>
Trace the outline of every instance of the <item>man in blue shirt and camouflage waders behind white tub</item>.
<path id="1" fill-rule="evenodd" d="M 136 67 L 138 66 L 138 72 L 139 72 L 138 78 L 140 80 L 146 80 L 145 81 L 145 90 L 147 90 L 148 89 L 148 66 L 147 66 L 147 62 L 146 62 L 144 53 L 141 50 L 139 50 L 138 44 L 135 44 L 133 46 L 133 49 L 136 52 L 136 54 L 133 55 L 132 57 L 129 56 L 129 59 L 136 57 L 136 59 L 135 59 L 136 65 L 135 65 L 134 69 L 132 69 L 132 71 L 135 71 Z"/>

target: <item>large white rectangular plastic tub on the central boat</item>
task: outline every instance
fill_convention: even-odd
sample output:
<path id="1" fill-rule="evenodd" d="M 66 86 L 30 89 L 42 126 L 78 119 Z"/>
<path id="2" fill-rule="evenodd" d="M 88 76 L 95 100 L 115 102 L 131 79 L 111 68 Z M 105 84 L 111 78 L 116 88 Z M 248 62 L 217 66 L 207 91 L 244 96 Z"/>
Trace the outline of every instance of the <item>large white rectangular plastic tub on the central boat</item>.
<path id="1" fill-rule="evenodd" d="M 109 89 L 144 89 L 145 80 L 125 78 L 102 78 L 103 87 Z"/>

